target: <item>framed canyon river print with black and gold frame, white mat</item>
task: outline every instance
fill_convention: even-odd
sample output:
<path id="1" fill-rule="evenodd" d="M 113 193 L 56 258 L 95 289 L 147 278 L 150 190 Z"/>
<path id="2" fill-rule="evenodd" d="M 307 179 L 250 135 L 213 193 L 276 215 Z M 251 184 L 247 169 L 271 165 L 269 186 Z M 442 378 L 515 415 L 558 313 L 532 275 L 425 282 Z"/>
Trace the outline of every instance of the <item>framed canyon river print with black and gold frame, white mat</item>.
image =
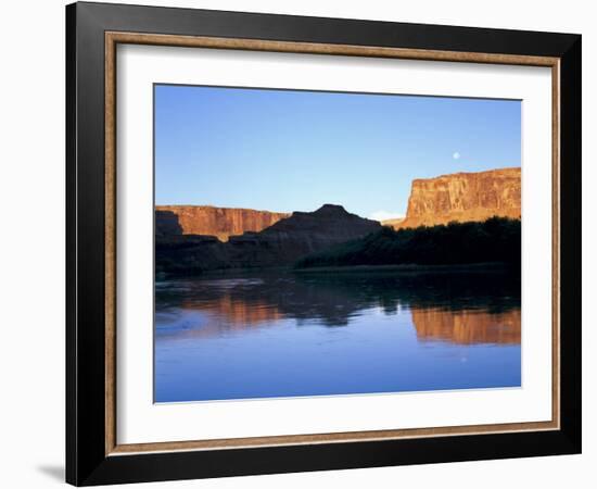
<path id="1" fill-rule="evenodd" d="M 66 25 L 68 482 L 581 451 L 581 36 Z"/>

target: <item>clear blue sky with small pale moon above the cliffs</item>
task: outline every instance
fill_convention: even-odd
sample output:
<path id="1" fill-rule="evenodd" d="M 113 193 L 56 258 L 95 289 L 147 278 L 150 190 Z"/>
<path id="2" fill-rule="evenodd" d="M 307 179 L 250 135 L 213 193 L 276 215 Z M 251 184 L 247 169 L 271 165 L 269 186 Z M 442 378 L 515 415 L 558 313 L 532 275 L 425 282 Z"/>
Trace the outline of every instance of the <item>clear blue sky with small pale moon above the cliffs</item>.
<path id="1" fill-rule="evenodd" d="M 410 183 L 520 166 L 520 101 L 155 86 L 155 203 L 406 213 Z"/>

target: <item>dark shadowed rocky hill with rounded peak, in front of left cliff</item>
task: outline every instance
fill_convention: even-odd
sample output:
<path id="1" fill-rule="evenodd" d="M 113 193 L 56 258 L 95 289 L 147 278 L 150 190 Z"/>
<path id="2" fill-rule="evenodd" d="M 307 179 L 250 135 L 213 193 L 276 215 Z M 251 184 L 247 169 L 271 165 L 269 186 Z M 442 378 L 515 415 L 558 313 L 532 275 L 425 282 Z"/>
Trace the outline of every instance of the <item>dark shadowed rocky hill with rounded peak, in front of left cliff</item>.
<path id="1" fill-rule="evenodd" d="M 230 236 L 227 242 L 209 236 L 156 235 L 156 272 L 290 265 L 306 254 L 380 229 L 377 221 L 326 204 L 315 212 L 294 212 L 258 233 Z"/>

